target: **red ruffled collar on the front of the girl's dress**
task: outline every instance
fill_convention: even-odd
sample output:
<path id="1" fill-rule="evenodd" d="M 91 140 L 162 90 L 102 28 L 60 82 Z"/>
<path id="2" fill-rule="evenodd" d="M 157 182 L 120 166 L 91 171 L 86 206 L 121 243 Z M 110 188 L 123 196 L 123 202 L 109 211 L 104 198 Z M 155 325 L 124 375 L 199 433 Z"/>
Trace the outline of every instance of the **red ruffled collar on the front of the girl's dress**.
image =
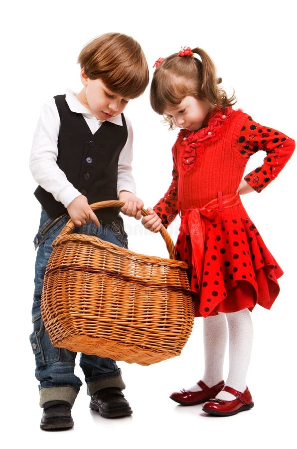
<path id="1" fill-rule="evenodd" d="M 191 170 L 197 156 L 199 158 L 199 147 L 201 143 L 214 137 L 231 114 L 231 108 L 221 109 L 216 106 L 206 117 L 206 124 L 203 128 L 198 131 L 180 130 L 177 142 L 179 142 L 182 148 L 181 162 L 186 171 Z"/>

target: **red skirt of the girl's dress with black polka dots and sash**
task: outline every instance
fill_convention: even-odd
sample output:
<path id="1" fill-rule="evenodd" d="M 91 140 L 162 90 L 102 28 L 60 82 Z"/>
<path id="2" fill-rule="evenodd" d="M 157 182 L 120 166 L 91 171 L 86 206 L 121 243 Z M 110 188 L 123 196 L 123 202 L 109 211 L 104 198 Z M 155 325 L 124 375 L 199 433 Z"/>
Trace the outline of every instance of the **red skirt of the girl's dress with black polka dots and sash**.
<path id="1" fill-rule="evenodd" d="M 195 316 L 252 311 L 256 304 L 270 309 L 280 291 L 283 270 L 239 195 L 222 199 L 191 208 L 181 220 L 176 250 L 189 265 Z"/>

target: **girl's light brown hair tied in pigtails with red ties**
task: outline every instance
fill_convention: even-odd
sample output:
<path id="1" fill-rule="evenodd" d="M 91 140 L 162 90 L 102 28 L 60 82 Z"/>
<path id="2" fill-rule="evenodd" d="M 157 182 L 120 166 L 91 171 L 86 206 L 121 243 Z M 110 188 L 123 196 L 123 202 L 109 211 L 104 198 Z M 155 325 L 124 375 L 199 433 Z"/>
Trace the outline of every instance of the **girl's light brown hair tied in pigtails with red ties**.
<path id="1" fill-rule="evenodd" d="M 218 86 L 222 82 L 217 78 L 213 61 L 199 47 L 192 49 L 195 56 L 177 56 L 173 53 L 165 58 L 155 69 L 150 86 L 150 104 L 158 114 L 167 107 L 178 105 L 184 97 L 193 96 L 199 100 L 208 100 L 215 106 L 232 107 L 236 103 L 235 95 L 227 93 Z M 173 129 L 171 117 L 164 116 Z"/>

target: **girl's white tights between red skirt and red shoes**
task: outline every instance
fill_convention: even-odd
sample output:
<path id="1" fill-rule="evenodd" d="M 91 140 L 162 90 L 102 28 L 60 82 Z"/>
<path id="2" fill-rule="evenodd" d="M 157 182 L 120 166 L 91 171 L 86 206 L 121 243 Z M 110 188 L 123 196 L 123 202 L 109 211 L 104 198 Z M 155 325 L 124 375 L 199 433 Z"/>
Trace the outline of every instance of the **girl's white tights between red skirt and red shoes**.
<path id="1" fill-rule="evenodd" d="M 229 334 L 229 373 L 226 385 L 244 392 L 251 358 L 253 324 L 248 309 L 233 313 L 219 313 L 203 319 L 204 375 L 202 381 L 213 387 L 223 379 L 224 356 Z M 189 391 L 199 391 L 195 384 Z M 234 396 L 223 391 L 218 399 L 231 401 Z"/>

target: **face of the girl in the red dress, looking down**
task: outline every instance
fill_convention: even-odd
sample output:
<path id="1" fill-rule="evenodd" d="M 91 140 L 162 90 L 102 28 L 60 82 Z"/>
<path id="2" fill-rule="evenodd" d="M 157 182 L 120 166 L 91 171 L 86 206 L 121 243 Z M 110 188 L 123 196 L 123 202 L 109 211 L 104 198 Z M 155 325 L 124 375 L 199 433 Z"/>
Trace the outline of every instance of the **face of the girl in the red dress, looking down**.
<path id="1" fill-rule="evenodd" d="M 195 97 L 187 96 L 179 105 L 166 108 L 164 115 L 171 117 L 174 125 L 178 128 L 198 131 L 213 108 L 214 105 L 208 100 L 198 100 Z"/>

